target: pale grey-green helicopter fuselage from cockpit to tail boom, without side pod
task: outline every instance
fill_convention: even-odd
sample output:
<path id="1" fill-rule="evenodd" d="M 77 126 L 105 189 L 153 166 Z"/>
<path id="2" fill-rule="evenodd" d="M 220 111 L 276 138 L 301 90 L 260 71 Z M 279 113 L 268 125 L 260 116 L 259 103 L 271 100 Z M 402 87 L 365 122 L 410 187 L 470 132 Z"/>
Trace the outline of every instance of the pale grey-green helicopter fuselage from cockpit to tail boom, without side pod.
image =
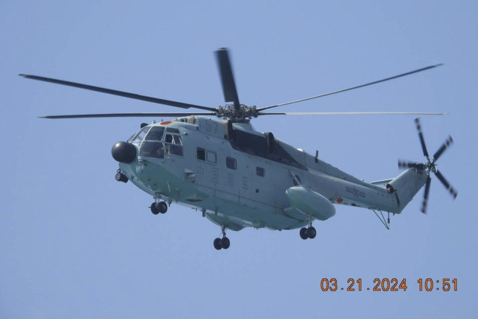
<path id="1" fill-rule="evenodd" d="M 291 209 L 286 196 L 294 185 L 306 185 L 332 204 L 392 213 L 403 209 L 385 187 L 256 132 L 248 123 L 190 116 L 148 125 L 128 142 L 137 147 L 137 159 L 119 167 L 131 182 L 233 230 L 306 225 L 314 216 Z"/>

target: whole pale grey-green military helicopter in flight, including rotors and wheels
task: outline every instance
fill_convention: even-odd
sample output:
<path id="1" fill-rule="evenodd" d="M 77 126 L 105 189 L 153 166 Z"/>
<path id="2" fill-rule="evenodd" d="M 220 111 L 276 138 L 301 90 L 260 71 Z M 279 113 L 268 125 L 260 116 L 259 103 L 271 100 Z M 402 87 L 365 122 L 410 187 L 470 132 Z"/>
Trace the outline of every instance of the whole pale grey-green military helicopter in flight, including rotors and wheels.
<path id="1" fill-rule="evenodd" d="M 398 161 L 406 168 L 392 179 L 371 183 L 360 180 L 307 154 L 279 139 L 272 133 L 255 131 L 250 120 L 263 115 L 329 115 L 329 114 L 416 114 L 446 113 L 414 112 L 281 112 L 265 110 L 316 99 L 392 80 L 435 68 L 441 64 L 395 75 L 359 86 L 320 94 L 313 97 L 265 107 L 239 103 L 233 71 L 226 48 L 215 51 L 224 98 L 231 105 L 217 108 L 163 100 L 101 87 L 68 82 L 35 75 L 19 74 L 28 79 L 98 91 L 183 109 L 195 108 L 209 112 L 186 113 L 114 113 L 41 116 L 47 119 L 101 117 L 175 117 L 172 121 L 142 123 L 140 130 L 126 142 L 118 142 L 112 155 L 119 162 L 116 179 L 130 180 L 151 194 L 153 214 L 164 214 L 171 203 L 202 212 L 221 226 L 222 238 L 214 240 L 217 250 L 228 249 L 226 229 L 244 227 L 272 230 L 300 228 L 302 239 L 314 238 L 314 220 L 335 215 L 335 204 L 373 210 L 389 229 L 390 213 L 399 214 L 419 189 L 425 185 L 421 211 L 426 212 L 430 190 L 430 173 L 434 173 L 454 198 L 457 191 L 436 169 L 436 161 L 453 143 L 451 137 L 430 159 L 419 119 L 416 128 L 426 162 Z M 215 116 L 217 118 L 211 118 Z M 380 215 L 377 213 L 380 213 Z M 388 213 L 385 220 L 383 212 Z"/>

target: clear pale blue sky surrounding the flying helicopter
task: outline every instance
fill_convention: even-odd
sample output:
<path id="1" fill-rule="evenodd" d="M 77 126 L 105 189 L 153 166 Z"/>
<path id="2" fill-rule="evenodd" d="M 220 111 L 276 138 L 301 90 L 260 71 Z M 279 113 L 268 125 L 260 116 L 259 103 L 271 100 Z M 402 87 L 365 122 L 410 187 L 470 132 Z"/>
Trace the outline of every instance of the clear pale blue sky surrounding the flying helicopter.
<path id="1" fill-rule="evenodd" d="M 0 318 L 477 318 L 476 1 L 77 2 L 0 2 Z M 445 63 L 276 111 L 449 112 L 422 125 L 432 154 L 455 141 L 438 163 L 458 198 L 433 178 L 428 214 L 422 189 L 390 230 L 372 211 L 337 206 L 314 240 L 244 229 L 216 251 L 220 227 L 199 212 L 152 215 L 150 195 L 114 179 L 111 147 L 151 118 L 36 118 L 178 109 L 17 76 L 216 107 L 212 52 L 224 46 L 241 103 L 257 106 Z M 423 160 L 413 119 L 253 125 L 371 181 L 399 174 L 398 158 Z M 320 289 L 351 277 L 363 291 Z M 408 290 L 366 291 L 375 277 L 406 278 Z M 457 278 L 458 291 L 419 292 L 429 277 Z"/>

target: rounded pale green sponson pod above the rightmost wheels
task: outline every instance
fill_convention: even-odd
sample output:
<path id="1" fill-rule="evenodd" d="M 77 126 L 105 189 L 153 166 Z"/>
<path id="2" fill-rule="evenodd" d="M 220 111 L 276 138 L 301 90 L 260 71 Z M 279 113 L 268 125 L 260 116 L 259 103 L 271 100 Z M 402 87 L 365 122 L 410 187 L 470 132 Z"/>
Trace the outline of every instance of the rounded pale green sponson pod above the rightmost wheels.
<path id="1" fill-rule="evenodd" d="M 289 187 L 285 194 L 292 207 L 315 219 L 326 220 L 335 215 L 335 206 L 309 186 Z"/>

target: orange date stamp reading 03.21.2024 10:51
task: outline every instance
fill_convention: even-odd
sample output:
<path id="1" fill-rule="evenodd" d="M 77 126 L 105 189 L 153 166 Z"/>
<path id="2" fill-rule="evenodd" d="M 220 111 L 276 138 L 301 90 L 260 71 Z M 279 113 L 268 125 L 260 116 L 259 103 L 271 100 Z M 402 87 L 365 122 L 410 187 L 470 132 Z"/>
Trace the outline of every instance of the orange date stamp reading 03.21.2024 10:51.
<path id="1" fill-rule="evenodd" d="M 397 278 L 375 278 L 370 287 L 365 287 L 365 291 L 407 291 L 407 279 Z M 362 279 L 349 278 L 347 285 L 342 287 L 336 278 L 322 278 L 320 281 L 322 291 L 362 291 Z M 417 288 L 419 291 L 457 291 L 457 279 L 441 278 L 433 280 L 432 278 L 419 278 L 417 285 L 411 289 Z"/>

